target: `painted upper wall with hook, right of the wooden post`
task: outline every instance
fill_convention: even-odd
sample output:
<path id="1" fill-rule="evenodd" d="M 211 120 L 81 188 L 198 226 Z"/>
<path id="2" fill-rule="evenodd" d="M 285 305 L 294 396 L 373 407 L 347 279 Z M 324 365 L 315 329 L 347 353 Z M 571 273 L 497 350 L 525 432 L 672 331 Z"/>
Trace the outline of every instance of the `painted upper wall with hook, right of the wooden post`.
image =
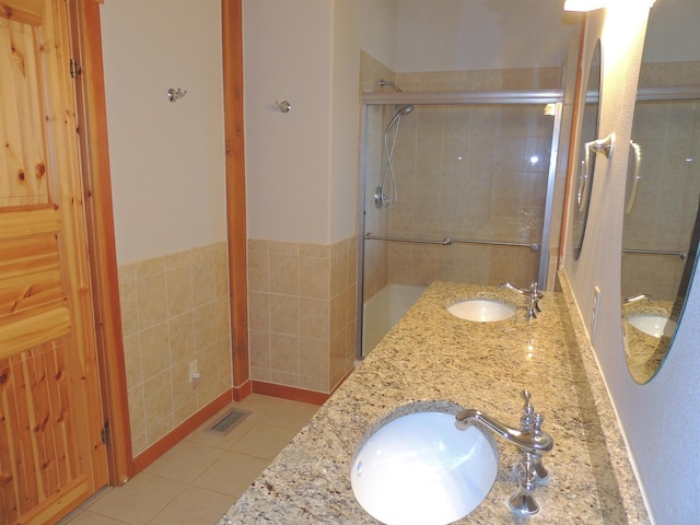
<path id="1" fill-rule="evenodd" d="M 330 240 L 332 12 L 327 0 L 243 2 L 250 238 Z"/>

